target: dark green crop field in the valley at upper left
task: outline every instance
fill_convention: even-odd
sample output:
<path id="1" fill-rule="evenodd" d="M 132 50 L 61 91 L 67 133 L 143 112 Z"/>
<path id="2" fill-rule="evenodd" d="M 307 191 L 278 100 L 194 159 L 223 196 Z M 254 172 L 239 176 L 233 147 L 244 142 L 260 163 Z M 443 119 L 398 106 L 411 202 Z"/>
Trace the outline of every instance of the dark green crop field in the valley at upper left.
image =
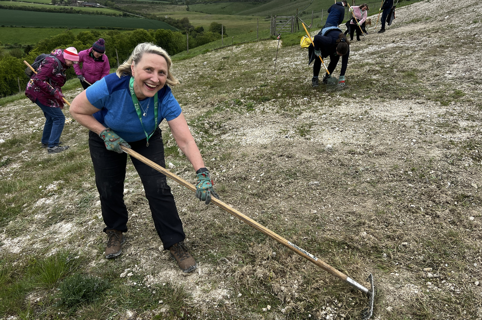
<path id="1" fill-rule="evenodd" d="M 170 29 L 168 24 L 151 19 L 131 17 L 111 17 L 104 15 L 85 15 L 71 13 L 34 12 L 0 9 L 1 25 L 53 28 L 132 28 L 132 29 Z"/>

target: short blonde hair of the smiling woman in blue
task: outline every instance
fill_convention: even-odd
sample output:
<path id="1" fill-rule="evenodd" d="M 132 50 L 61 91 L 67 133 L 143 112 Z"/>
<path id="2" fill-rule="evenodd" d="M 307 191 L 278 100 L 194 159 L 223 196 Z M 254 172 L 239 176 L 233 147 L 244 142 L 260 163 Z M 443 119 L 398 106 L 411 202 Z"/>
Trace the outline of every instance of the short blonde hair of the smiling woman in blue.
<path id="1" fill-rule="evenodd" d="M 171 57 L 167 54 L 167 52 L 162 49 L 160 46 L 157 46 L 153 43 L 150 42 L 144 42 L 144 43 L 139 43 L 132 53 L 130 54 L 129 59 L 125 60 L 123 64 L 119 66 L 119 68 L 116 71 L 116 74 L 118 77 L 124 76 L 124 75 L 132 75 L 132 70 L 130 67 L 132 64 L 137 64 L 139 61 L 141 61 L 142 56 L 145 53 L 154 53 L 157 55 L 160 55 L 163 57 L 166 62 L 167 62 L 167 80 L 166 83 L 169 86 L 174 86 L 179 83 L 179 81 L 176 79 L 176 77 L 172 74 L 171 72 L 171 67 L 172 67 L 172 60 Z"/>

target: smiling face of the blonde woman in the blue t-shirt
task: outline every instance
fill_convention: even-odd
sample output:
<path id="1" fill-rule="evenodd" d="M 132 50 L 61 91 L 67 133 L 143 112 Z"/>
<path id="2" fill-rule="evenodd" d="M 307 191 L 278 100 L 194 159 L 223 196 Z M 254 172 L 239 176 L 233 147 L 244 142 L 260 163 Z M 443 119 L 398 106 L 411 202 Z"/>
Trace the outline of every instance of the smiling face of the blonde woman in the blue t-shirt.
<path id="1" fill-rule="evenodd" d="M 167 80 L 167 61 L 155 53 L 145 53 L 137 64 L 132 63 L 130 69 L 137 99 L 154 97 Z"/>

